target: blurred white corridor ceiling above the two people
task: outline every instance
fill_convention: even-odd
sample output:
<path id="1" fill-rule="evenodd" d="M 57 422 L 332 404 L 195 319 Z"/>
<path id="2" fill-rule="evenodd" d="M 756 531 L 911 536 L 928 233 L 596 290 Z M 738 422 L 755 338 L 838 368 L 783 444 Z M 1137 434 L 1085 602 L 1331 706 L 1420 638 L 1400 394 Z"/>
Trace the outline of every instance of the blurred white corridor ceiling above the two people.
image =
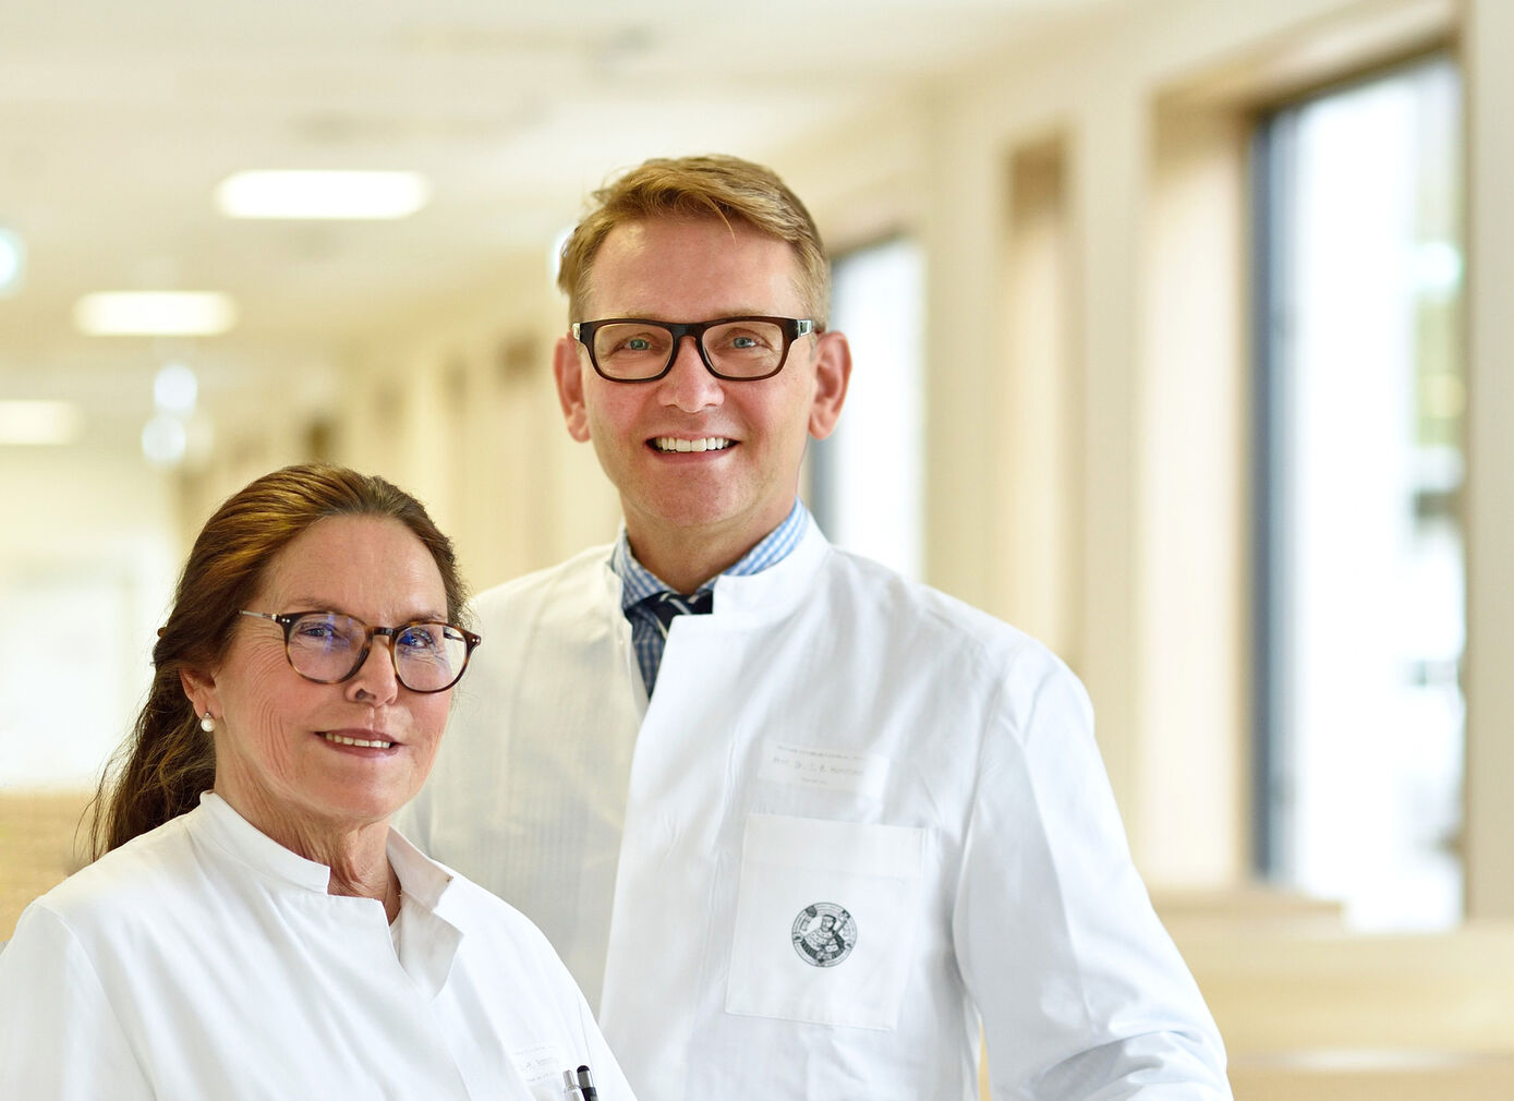
<path id="1" fill-rule="evenodd" d="M 83 401 L 129 439 L 173 354 L 213 395 L 298 373 L 375 318 L 544 256 L 586 191 L 646 156 L 763 159 L 901 85 L 1117 0 L 0 0 L 0 398 Z M 400 223 L 233 221 L 245 168 L 400 168 Z M 101 289 L 215 289 L 239 326 L 194 345 L 86 338 Z"/>

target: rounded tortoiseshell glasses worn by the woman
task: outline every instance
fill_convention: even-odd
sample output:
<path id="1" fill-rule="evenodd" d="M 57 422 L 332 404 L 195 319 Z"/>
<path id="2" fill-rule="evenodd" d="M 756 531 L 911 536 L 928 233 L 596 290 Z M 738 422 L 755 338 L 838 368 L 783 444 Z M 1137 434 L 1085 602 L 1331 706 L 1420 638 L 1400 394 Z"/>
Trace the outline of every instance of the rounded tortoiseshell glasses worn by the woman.
<path id="1" fill-rule="evenodd" d="M 368 660 L 374 635 L 389 639 L 394 675 L 412 692 L 445 692 L 468 668 L 468 657 L 483 639 L 447 622 L 407 622 L 369 627 L 338 612 L 241 612 L 273 619 L 283 627 L 289 665 L 306 680 L 339 685 Z"/>

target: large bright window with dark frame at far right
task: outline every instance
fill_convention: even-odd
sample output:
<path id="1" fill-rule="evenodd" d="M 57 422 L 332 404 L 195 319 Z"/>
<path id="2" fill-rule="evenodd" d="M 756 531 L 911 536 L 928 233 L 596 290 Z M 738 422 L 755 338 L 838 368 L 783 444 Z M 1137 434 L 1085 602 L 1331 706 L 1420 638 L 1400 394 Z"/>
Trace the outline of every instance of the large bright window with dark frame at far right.
<path id="1" fill-rule="evenodd" d="M 1258 133 L 1258 862 L 1358 928 L 1463 910 L 1461 117 L 1435 58 Z"/>

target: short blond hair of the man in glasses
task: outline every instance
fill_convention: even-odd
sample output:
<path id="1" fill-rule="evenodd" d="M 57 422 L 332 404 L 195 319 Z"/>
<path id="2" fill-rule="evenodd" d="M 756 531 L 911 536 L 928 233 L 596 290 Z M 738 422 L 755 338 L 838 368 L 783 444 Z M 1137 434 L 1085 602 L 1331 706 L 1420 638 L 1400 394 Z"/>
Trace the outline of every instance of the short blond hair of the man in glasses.
<path id="1" fill-rule="evenodd" d="M 733 156 L 654 158 L 592 195 L 592 209 L 563 245 L 557 286 L 568 317 L 584 321 L 593 257 L 616 226 L 651 218 L 719 218 L 786 241 L 799 260 L 798 289 L 807 315 L 824 329 L 831 265 L 815 220 L 771 168 Z M 684 318 L 701 320 L 701 318 Z"/>

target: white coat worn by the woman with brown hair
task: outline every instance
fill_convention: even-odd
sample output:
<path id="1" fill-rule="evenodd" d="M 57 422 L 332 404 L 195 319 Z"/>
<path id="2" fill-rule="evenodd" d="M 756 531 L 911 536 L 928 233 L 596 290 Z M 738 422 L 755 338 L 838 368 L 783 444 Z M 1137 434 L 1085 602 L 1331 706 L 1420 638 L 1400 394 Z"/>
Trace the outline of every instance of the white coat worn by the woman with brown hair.
<path id="1" fill-rule="evenodd" d="M 560 1101 L 587 1063 L 630 1098 L 525 918 L 394 831 L 389 859 L 394 930 L 217 795 L 106 854 L 0 953 L 0 1096 Z"/>

